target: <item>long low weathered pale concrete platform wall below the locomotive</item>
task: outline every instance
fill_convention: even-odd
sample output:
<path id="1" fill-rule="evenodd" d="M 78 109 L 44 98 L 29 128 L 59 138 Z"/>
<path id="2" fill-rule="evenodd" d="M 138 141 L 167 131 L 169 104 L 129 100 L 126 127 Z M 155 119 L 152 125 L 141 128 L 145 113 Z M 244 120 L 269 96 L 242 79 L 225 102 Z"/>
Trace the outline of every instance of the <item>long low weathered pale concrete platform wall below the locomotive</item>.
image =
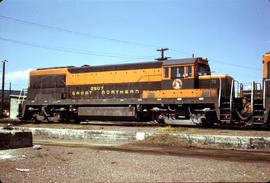
<path id="1" fill-rule="evenodd" d="M 34 139 L 61 139 L 65 141 L 95 142 L 97 144 L 148 143 L 172 146 L 195 146 L 215 149 L 270 151 L 270 136 L 237 136 L 159 131 L 107 131 L 55 128 L 29 128 Z M 269 132 L 270 135 L 270 132 Z"/>

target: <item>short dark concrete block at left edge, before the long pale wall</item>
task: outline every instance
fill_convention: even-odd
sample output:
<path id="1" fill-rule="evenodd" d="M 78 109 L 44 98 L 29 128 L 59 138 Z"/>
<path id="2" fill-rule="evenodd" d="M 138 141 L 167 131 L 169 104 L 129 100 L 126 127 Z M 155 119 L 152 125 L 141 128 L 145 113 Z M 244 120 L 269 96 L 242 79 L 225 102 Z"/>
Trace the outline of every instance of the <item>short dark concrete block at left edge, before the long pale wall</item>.
<path id="1" fill-rule="evenodd" d="M 0 150 L 33 145 L 32 132 L 25 129 L 4 129 L 0 128 Z"/>

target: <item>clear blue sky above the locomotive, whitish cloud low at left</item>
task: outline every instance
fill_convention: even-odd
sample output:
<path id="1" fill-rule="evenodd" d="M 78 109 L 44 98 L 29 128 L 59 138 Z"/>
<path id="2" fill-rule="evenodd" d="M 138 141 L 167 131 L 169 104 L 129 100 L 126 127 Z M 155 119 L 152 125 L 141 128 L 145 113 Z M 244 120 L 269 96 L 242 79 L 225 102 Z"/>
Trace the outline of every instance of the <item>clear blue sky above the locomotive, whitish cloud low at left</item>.
<path id="1" fill-rule="evenodd" d="M 152 61 L 161 47 L 261 82 L 269 19 L 269 0 L 2 0 L 0 60 L 13 89 L 37 68 Z"/>

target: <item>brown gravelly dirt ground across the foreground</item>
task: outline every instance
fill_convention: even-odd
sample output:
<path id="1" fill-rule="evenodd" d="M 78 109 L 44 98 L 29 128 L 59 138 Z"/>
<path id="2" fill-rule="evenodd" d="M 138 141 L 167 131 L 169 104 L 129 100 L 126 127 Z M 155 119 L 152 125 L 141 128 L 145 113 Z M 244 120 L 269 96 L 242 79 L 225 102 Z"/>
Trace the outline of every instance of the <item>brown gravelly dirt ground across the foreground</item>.
<path id="1" fill-rule="evenodd" d="M 149 144 L 42 145 L 0 151 L 0 180 L 17 182 L 267 182 L 270 154 Z"/>

